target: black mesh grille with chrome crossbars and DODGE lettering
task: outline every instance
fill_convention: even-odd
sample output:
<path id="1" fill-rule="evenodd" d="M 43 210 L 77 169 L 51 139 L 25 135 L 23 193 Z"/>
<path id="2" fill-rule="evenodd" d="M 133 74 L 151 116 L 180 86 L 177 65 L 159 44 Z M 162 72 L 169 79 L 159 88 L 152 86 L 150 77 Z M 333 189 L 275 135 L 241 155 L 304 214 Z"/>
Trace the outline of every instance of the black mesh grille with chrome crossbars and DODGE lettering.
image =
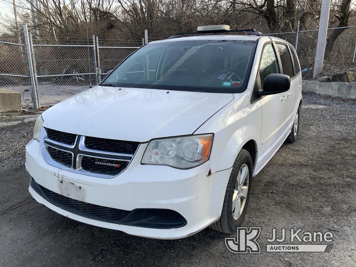
<path id="1" fill-rule="evenodd" d="M 123 172 L 139 145 L 138 142 L 73 135 L 45 127 L 41 131 L 41 153 L 48 164 L 95 177 L 111 178 Z"/>

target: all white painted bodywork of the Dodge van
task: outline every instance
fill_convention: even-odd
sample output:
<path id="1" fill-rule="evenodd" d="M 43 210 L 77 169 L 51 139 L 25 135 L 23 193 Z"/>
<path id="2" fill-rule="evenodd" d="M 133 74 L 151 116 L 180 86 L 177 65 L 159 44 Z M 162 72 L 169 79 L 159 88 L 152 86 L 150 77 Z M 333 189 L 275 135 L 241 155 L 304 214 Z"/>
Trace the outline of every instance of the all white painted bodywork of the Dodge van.
<path id="1" fill-rule="evenodd" d="M 255 36 L 182 37 L 197 39 L 245 39 Z M 163 42 L 173 42 L 175 39 Z M 67 197 L 100 206 L 133 210 L 170 209 L 187 224 L 177 229 L 152 229 L 88 219 L 60 209 L 43 199 L 30 186 L 31 195 L 48 208 L 91 225 L 132 235 L 177 239 L 192 235 L 219 219 L 232 165 L 241 148 L 253 141 L 256 175 L 288 136 L 302 99 L 302 77 L 292 80 L 284 102 L 282 94 L 254 101 L 251 97 L 262 46 L 256 48 L 247 89 L 240 94 L 219 94 L 94 87 L 62 101 L 43 113 L 44 127 L 84 136 L 142 142 L 121 174 L 103 179 L 73 173 L 46 163 L 40 143 L 26 146 L 26 169 L 43 187 Z M 191 169 L 141 164 L 148 141 L 153 138 L 214 133 L 210 159 Z M 62 183 L 61 183 L 62 181 Z M 80 192 L 74 188 L 81 187 Z"/>

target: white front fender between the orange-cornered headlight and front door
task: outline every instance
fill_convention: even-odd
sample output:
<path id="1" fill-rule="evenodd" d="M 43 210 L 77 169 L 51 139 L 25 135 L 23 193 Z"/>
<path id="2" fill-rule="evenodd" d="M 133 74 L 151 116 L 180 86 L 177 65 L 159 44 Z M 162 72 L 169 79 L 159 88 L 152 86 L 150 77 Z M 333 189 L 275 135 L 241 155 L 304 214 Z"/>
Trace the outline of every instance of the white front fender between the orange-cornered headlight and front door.
<path id="1" fill-rule="evenodd" d="M 246 93 L 200 126 L 194 134 L 214 133 L 208 174 L 231 168 L 241 148 L 249 140 L 255 142 L 258 153 L 261 125 L 260 101 L 251 104 L 250 94 Z"/>

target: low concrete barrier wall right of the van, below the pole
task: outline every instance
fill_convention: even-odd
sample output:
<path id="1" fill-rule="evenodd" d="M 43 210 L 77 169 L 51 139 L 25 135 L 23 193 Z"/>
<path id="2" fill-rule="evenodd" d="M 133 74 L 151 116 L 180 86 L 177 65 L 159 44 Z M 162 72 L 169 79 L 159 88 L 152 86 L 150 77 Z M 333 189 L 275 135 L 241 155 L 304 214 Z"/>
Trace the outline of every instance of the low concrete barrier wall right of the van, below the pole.
<path id="1" fill-rule="evenodd" d="M 323 83 L 303 80 L 303 91 L 342 98 L 356 98 L 356 84 L 346 82 Z"/>

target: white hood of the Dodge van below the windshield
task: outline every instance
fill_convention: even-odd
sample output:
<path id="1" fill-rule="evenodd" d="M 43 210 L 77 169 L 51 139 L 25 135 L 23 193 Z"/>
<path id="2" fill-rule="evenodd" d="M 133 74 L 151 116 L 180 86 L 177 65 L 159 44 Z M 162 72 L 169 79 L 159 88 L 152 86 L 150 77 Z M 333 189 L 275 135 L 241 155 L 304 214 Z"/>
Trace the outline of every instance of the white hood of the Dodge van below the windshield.
<path id="1" fill-rule="evenodd" d="M 96 86 L 43 112 L 43 126 L 78 135 L 146 142 L 192 134 L 232 94 Z"/>

